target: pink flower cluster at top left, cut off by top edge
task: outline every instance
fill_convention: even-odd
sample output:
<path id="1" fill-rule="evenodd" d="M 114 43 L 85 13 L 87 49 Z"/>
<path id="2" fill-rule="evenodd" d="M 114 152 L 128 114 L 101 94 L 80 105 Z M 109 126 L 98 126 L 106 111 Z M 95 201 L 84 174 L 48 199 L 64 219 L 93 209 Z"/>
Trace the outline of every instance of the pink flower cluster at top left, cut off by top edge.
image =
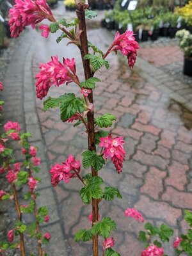
<path id="1" fill-rule="evenodd" d="M 10 31 L 14 38 L 20 35 L 25 26 L 35 25 L 44 19 L 55 21 L 46 0 L 15 0 L 14 8 L 10 9 Z"/>

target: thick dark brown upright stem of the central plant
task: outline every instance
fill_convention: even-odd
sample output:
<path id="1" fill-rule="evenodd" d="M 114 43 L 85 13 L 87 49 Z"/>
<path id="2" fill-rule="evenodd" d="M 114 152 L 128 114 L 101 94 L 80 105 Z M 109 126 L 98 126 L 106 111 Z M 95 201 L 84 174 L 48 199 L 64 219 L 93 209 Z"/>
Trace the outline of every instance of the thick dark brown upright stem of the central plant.
<path id="1" fill-rule="evenodd" d="M 83 68 L 84 68 L 84 77 L 87 80 L 88 78 L 92 77 L 92 70 L 90 68 L 90 61 L 84 60 L 84 55 L 88 54 L 88 40 L 86 35 L 86 22 L 84 17 L 84 10 L 83 4 L 77 4 L 77 18 L 79 20 L 79 29 L 83 32 L 80 35 L 80 43 L 81 46 L 79 47 L 81 51 L 81 59 L 83 61 Z M 93 92 L 88 95 L 88 100 L 90 103 L 93 103 Z M 95 131 L 94 131 L 94 112 L 87 114 L 88 118 L 88 149 L 96 151 L 95 145 Z M 92 176 L 97 176 L 97 172 L 92 168 Z M 93 225 L 99 219 L 99 200 L 92 199 L 92 216 L 93 216 Z M 93 236 L 93 256 L 99 256 L 99 248 L 98 248 L 98 235 Z"/>

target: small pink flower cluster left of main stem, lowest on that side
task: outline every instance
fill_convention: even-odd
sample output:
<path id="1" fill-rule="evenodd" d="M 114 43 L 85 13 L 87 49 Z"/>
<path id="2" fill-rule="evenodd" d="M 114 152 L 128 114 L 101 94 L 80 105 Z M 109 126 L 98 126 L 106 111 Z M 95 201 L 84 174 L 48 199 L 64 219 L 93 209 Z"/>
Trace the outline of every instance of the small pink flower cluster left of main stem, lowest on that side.
<path id="1" fill-rule="evenodd" d="M 71 178 L 76 177 L 76 171 L 79 173 L 80 168 L 80 161 L 76 161 L 72 155 L 68 156 L 68 159 L 64 163 L 54 164 L 50 170 L 52 186 L 57 186 L 61 180 L 68 183 Z"/>

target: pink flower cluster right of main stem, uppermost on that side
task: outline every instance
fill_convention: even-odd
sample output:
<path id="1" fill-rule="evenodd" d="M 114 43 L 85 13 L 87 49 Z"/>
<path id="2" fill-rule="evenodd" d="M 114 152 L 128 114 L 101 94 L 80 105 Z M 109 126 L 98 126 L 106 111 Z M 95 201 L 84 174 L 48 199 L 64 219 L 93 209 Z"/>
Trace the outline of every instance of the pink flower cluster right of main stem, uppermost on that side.
<path id="1" fill-rule="evenodd" d="M 125 31 L 122 35 L 117 31 L 113 46 L 115 47 L 112 51 L 120 50 L 124 56 L 127 56 L 129 67 L 133 67 L 136 62 L 136 49 L 139 49 L 139 44 L 134 38 L 133 31 Z"/>

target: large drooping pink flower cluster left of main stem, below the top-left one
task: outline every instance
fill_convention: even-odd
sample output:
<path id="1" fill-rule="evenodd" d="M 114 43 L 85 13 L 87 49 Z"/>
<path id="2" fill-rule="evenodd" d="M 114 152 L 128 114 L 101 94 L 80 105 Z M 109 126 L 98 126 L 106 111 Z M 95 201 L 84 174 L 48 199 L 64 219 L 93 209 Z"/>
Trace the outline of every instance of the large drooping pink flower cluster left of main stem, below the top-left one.
<path id="1" fill-rule="evenodd" d="M 76 76 L 76 62 L 63 58 L 63 63 L 58 61 L 58 56 L 51 57 L 51 61 L 40 63 L 40 73 L 36 74 L 36 97 L 43 99 L 52 85 L 60 86 L 65 82 L 79 81 Z M 71 73 L 71 72 L 72 73 Z"/>

